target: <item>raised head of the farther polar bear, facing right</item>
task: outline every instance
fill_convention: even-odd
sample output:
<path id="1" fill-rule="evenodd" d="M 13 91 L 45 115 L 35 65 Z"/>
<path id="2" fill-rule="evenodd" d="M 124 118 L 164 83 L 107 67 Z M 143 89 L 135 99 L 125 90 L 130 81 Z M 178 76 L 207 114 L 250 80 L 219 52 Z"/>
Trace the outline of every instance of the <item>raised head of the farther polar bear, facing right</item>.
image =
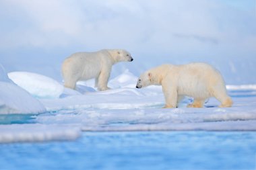
<path id="1" fill-rule="evenodd" d="M 127 50 L 108 50 L 110 52 L 111 56 L 113 57 L 113 60 L 115 62 L 120 61 L 133 61 L 133 58 L 131 57 L 131 54 L 127 52 Z"/>

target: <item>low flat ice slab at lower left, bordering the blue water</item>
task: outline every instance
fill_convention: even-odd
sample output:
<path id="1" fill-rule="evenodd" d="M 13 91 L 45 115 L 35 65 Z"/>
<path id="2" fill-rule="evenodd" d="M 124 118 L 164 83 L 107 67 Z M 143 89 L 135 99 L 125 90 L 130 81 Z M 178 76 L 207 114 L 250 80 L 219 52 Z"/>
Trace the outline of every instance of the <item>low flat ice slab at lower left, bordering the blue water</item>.
<path id="1" fill-rule="evenodd" d="M 79 128 L 49 124 L 0 125 L 0 131 L 0 143 L 75 140 L 81 135 Z"/>

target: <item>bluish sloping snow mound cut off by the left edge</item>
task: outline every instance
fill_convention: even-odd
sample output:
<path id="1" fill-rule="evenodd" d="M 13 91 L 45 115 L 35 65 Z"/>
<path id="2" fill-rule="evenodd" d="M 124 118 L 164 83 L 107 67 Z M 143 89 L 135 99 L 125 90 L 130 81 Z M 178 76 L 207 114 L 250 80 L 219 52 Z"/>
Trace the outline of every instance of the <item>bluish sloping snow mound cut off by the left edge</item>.
<path id="1" fill-rule="evenodd" d="M 0 114 L 39 114 L 46 111 L 40 101 L 8 79 L 3 67 L 0 67 L 0 74 Z"/>

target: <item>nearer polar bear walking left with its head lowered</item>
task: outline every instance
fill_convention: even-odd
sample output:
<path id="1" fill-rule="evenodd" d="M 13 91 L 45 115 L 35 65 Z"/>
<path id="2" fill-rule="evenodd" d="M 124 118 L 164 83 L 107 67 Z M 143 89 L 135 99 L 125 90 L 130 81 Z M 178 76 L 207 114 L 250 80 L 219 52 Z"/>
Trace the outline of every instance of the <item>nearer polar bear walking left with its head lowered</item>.
<path id="1" fill-rule="evenodd" d="M 185 96 L 194 98 L 188 108 L 202 108 L 209 97 L 216 97 L 221 102 L 221 108 L 232 105 L 222 75 L 205 63 L 161 65 L 150 69 L 140 75 L 136 87 L 148 85 L 162 85 L 166 100 L 164 108 L 177 108 L 177 103 Z"/>

